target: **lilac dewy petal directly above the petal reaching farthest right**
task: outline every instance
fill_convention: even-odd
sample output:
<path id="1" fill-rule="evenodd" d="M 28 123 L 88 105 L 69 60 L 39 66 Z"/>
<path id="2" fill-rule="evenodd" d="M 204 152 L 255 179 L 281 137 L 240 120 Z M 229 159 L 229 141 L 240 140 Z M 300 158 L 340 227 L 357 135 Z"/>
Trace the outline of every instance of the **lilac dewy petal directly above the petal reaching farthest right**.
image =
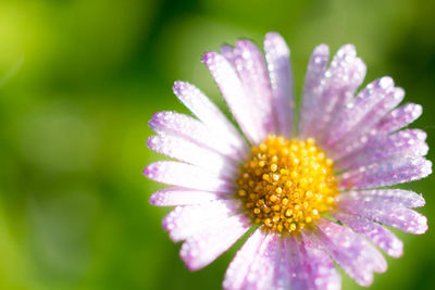
<path id="1" fill-rule="evenodd" d="M 419 129 L 401 130 L 384 138 L 375 139 L 363 149 L 335 162 L 339 171 L 380 163 L 390 157 L 403 155 L 425 155 L 428 147 L 424 142 L 426 134 Z"/>

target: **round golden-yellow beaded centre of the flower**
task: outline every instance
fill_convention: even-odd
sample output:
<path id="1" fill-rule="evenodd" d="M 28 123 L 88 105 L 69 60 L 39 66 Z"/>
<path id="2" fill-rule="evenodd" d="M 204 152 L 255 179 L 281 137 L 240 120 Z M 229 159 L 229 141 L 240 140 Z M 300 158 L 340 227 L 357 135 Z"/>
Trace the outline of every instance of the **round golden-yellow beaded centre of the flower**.
<path id="1" fill-rule="evenodd" d="M 315 140 L 269 135 L 240 166 L 237 198 L 264 230 L 295 234 L 335 206 L 334 162 Z"/>

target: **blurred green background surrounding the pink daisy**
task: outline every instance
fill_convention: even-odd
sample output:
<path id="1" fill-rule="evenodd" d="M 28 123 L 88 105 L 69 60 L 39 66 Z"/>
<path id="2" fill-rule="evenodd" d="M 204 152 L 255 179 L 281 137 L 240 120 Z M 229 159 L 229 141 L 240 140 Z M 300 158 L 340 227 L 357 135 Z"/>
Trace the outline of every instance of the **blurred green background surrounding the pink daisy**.
<path id="1" fill-rule="evenodd" d="M 141 174 L 160 159 L 147 122 L 187 112 L 173 81 L 222 105 L 201 53 L 276 30 L 300 93 L 314 46 L 351 42 L 364 84 L 390 75 L 423 104 L 413 126 L 434 148 L 433 11 L 415 0 L 0 1 L 0 289 L 219 289 L 240 243 L 189 273 L 160 226 L 169 209 L 148 204 L 161 186 Z M 435 181 L 406 187 L 426 198 L 430 230 L 398 234 L 405 255 L 372 289 L 435 289 Z"/>

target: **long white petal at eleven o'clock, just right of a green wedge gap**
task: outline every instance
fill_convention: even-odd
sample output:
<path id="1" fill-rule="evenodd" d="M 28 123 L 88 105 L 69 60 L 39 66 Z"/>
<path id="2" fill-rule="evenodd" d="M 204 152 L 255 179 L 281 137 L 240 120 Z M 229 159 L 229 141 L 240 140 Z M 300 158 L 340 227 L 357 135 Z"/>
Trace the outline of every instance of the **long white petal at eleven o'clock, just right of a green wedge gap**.
<path id="1" fill-rule="evenodd" d="M 258 126 L 256 114 L 252 114 L 254 105 L 232 64 L 214 51 L 203 54 L 202 60 L 246 137 L 253 143 L 261 141 L 265 133 Z"/>

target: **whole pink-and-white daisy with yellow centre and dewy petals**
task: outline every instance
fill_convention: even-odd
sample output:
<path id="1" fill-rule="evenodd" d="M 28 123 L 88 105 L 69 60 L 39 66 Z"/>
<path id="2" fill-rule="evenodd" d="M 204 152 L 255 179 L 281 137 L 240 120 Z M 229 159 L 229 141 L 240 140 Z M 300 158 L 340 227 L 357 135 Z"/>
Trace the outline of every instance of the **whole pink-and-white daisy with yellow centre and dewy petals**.
<path id="1" fill-rule="evenodd" d="M 295 124 L 289 49 L 276 33 L 265 59 L 249 40 L 202 60 L 241 133 L 196 87 L 176 81 L 178 99 L 197 117 L 156 113 L 150 149 L 161 161 L 145 175 L 171 185 L 150 203 L 173 206 L 163 227 L 184 241 L 181 257 L 200 269 L 252 229 L 229 264 L 225 289 L 339 289 L 335 262 L 360 286 L 387 265 L 402 242 L 385 226 L 423 234 L 415 192 L 385 188 L 431 174 L 426 134 L 402 129 L 422 113 L 400 106 L 405 92 L 382 77 L 357 92 L 365 75 L 355 47 L 310 59 Z M 397 106 L 397 108 L 396 108 Z M 296 129 L 297 127 L 297 129 Z M 296 131 L 296 133 L 295 133 Z"/>

